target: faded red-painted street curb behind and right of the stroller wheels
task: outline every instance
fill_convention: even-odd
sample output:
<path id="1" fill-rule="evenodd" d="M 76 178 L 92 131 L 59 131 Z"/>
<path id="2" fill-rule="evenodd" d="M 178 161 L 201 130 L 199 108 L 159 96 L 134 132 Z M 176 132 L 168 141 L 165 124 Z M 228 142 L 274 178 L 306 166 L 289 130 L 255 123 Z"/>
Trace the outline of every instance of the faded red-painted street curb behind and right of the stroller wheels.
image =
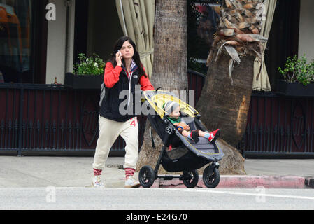
<path id="1" fill-rule="evenodd" d="M 312 187 L 311 187 L 312 186 Z M 222 175 L 216 188 L 314 188 L 314 179 L 301 176 Z M 152 188 L 186 188 L 183 181 L 157 179 Z M 202 176 L 196 188 L 206 188 Z"/>

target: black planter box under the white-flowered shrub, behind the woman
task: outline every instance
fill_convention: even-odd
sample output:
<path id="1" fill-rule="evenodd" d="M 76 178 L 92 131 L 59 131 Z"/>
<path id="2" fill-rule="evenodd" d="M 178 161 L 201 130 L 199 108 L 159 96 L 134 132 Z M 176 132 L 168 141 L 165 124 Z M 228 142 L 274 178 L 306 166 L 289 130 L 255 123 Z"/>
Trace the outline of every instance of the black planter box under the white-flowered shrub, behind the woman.
<path id="1" fill-rule="evenodd" d="M 67 72 L 64 78 L 64 85 L 78 90 L 100 90 L 104 82 L 104 75 L 76 75 Z"/>

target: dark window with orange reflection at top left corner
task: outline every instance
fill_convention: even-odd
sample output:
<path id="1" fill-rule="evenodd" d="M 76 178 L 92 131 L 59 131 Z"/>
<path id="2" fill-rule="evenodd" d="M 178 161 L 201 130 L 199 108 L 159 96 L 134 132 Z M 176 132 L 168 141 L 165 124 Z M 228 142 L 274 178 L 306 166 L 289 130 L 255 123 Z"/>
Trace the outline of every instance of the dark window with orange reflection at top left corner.
<path id="1" fill-rule="evenodd" d="M 31 2 L 0 0 L 0 71 L 6 83 L 21 83 L 31 73 Z"/>

